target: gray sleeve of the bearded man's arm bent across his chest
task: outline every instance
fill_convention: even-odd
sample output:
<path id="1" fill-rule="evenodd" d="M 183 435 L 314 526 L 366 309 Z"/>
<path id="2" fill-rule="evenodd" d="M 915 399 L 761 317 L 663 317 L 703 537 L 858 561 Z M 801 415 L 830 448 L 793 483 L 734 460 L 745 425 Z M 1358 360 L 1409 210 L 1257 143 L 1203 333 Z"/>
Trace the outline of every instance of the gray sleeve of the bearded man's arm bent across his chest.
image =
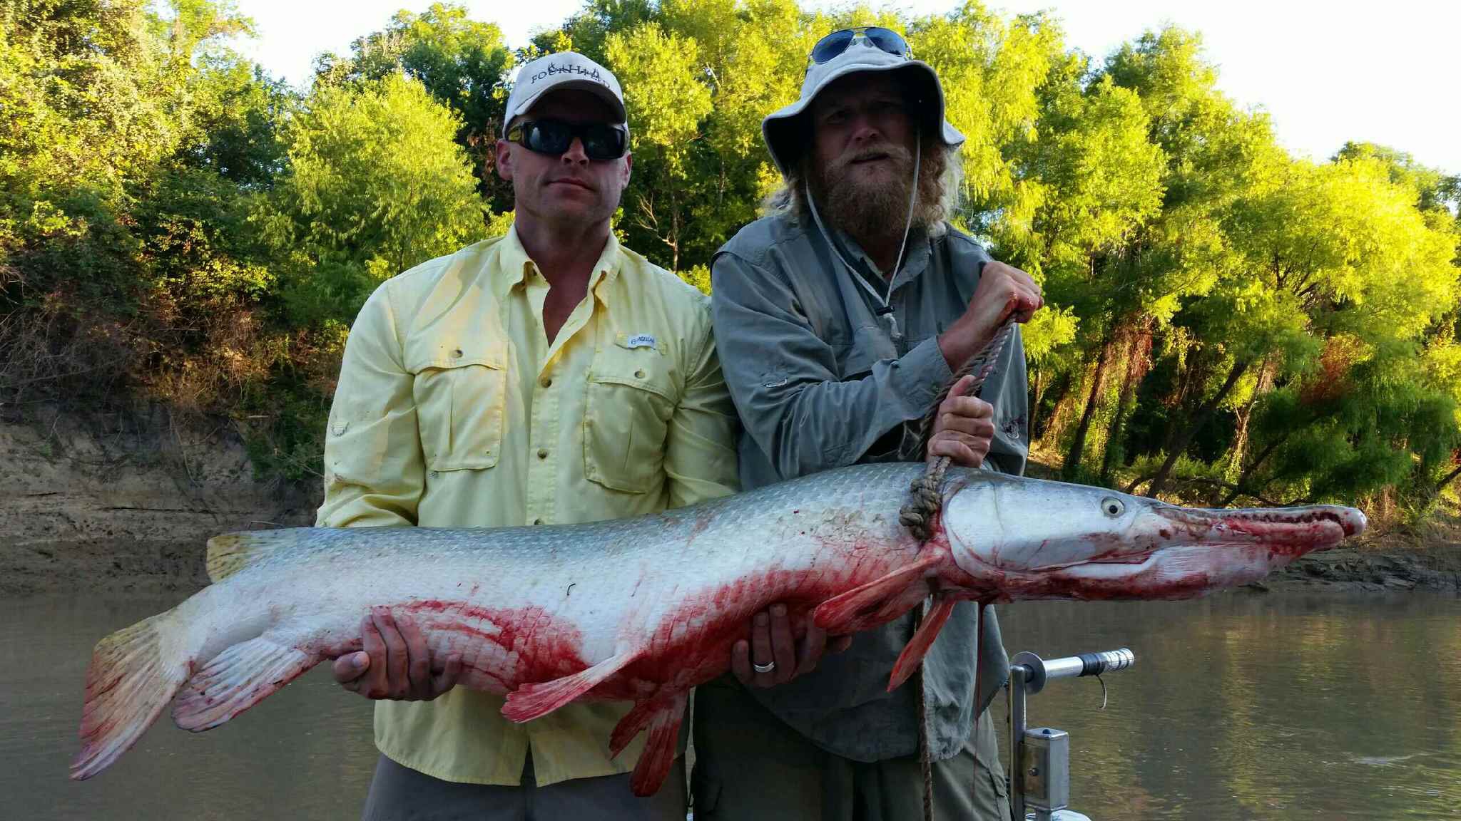
<path id="1" fill-rule="evenodd" d="M 869 457 L 909 457 L 901 454 L 904 424 L 922 419 L 953 375 L 938 339 L 844 381 L 831 346 L 817 336 L 785 278 L 722 251 L 712 282 L 730 397 L 782 479 Z"/>

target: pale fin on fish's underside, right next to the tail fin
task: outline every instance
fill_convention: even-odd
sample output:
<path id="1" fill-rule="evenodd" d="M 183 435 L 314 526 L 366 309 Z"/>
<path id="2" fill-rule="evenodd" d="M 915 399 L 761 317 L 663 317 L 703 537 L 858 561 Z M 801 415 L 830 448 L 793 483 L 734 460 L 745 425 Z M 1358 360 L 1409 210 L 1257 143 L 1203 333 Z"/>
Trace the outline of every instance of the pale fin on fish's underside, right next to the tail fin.
<path id="1" fill-rule="evenodd" d="M 318 662 L 320 656 L 266 635 L 234 644 L 187 679 L 172 704 L 172 722 L 193 732 L 213 729 Z"/>

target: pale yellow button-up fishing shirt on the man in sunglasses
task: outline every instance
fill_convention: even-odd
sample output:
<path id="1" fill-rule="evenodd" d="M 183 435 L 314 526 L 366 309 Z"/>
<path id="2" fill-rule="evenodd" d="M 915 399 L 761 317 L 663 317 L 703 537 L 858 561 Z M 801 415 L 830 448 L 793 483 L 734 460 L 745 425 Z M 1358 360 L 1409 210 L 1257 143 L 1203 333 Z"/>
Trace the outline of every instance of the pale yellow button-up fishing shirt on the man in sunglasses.
<path id="1" fill-rule="evenodd" d="M 736 489 L 735 409 L 707 299 L 611 235 L 557 339 L 548 280 L 517 232 L 384 282 L 345 346 L 324 446 L 324 527 L 567 524 Z M 364 614 L 361 614 L 364 615 Z M 378 701 L 375 745 L 449 782 L 516 786 L 627 773 L 609 758 L 628 703 L 514 725 L 453 688 Z"/>

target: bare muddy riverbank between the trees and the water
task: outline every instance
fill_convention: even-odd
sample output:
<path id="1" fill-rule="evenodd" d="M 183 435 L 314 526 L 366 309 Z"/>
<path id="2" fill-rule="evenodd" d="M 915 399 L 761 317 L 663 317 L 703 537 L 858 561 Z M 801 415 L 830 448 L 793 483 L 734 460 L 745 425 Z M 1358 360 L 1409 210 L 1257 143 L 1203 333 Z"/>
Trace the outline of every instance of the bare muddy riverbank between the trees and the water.
<path id="1" fill-rule="evenodd" d="M 210 536 L 314 520 L 317 486 L 256 482 L 226 421 L 184 422 L 165 408 L 37 416 L 0 422 L 0 596 L 186 593 L 207 584 Z M 1252 589 L 1461 593 L 1461 516 L 1366 535 Z"/>

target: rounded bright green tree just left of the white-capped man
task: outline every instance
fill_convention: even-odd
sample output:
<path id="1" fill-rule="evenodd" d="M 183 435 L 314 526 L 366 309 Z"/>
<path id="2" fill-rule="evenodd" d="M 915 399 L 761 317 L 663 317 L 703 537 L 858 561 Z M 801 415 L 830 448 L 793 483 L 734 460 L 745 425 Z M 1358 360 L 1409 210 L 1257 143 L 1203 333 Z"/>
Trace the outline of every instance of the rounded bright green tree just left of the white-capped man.
<path id="1" fill-rule="evenodd" d="M 289 323 L 349 321 L 386 278 L 481 237 L 459 124 L 399 75 L 304 101 L 283 134 L 289 174 L 257 213 Z"/>

